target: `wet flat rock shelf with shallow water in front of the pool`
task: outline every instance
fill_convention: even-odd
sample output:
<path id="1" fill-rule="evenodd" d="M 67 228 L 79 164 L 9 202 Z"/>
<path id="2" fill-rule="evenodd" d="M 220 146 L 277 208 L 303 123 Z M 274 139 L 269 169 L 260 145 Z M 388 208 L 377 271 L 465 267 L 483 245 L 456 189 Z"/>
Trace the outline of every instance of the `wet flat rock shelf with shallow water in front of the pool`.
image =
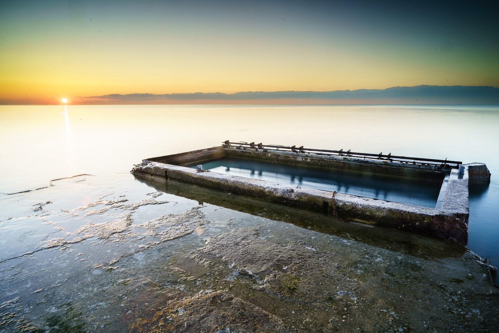
<path id="1" fill-rule="evenodd" d="M 126 174 L 53 185 L 2 198 L 0 332 L 499 325 L 461 246 Z"/>

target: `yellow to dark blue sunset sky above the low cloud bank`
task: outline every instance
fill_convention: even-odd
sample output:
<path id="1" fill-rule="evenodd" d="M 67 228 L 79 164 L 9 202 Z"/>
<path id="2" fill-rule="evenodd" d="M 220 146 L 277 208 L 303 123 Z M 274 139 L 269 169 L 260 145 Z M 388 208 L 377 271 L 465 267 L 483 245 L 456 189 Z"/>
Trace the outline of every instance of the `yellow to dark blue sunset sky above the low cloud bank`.
<path id="1" fill-rule="evenodd" d="M 497 1 L 0 0 L 0 103 L 499 87 L 498 9 Z"/>

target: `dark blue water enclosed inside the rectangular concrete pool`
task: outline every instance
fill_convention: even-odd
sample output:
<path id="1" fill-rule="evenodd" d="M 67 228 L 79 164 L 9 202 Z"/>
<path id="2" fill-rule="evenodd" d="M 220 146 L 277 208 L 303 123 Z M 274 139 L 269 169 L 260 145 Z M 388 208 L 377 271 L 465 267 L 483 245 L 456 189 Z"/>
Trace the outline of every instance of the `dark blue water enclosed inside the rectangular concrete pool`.
<path id="1" fill-rule="evenodd" d="M 196 168 L 196 165 L 189 167 Z M 234 158 L 205 162 L 203 169 L 431 208 L 437 203 L 441 187 L 439 183 L 400 181 Z"/>

